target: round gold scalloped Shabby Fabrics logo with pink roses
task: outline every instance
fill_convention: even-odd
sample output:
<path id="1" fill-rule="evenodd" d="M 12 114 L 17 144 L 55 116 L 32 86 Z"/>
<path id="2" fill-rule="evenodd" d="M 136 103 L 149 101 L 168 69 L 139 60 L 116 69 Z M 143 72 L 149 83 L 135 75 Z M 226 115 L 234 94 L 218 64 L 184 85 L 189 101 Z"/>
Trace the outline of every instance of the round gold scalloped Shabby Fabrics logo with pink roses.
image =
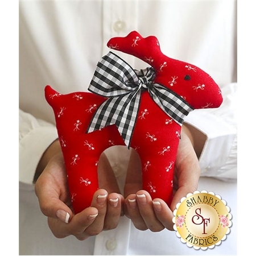
<path id="1" fill-rule="evenodd" d="M 188 247 L 206 250 L 220 245 L 230 232 L 232 215 L 225 200 L 213 192 L 195 191 L 181 199 L 174 211 L 174 230 Z"/>

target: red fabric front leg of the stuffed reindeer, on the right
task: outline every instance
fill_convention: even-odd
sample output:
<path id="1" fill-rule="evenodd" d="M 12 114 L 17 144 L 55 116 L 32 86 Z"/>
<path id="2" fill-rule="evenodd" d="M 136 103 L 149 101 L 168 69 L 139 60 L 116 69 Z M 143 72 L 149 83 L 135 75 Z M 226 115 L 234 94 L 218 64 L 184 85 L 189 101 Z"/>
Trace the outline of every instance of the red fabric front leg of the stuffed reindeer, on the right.
<path id="1" fill-rule="evenodd" d="M 158 137 L 154 140 L 155 137 L 150 133 L 144 134 L 144 139 L 139 139 L 137 134 L 134 134 L 133 141 L 133 148 L 141 159 L 143 189 L 150 193 L 152 199 L 163 199 L 170 206 L 179 139 L 172 137 L 170 140 L 164 140 Z"/>

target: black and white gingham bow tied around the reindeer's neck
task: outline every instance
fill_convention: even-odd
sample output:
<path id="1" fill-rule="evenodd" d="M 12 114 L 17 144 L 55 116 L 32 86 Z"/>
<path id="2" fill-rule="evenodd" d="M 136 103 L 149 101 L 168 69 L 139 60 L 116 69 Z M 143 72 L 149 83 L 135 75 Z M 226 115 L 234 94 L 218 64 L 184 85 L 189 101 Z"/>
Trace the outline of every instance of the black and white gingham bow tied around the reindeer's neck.
<path id="1" fill-rule="evenodd" d="M 94 113 L 86 132 L 115 124 L 129 147 L 141 92 L 145 89 L 166 114 L 182 125 L 184 117 L 193 109 L 172 90 L 160 84 L 153 84 L 154 78 L 155 71 L 152 67 L 136 71 L 113 52 L 102 57 L 97 64 L 89 90 L 107 97 L 108 100 Z"/>

